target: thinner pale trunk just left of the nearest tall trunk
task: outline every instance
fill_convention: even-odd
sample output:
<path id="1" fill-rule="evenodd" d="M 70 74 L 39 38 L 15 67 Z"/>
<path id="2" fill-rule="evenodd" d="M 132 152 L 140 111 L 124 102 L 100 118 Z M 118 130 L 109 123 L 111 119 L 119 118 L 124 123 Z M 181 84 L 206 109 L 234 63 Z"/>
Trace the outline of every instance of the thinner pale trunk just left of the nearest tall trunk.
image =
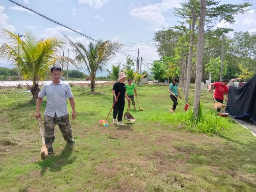
<path id="1" fill-rule="evenodd" d="M 190 44 L 189 44 L 189 53 L 188 53 L 188 70 L 187 70 L 187 80 L 185 85 L 185 101 L 186 102 L 188 102 L 189 84 L 190 84 L 190 77 L 191 77 L 193 47 L 194 47 L 194 38 L 195 38 L 195 24 L 196 24 L 196 10 L 195 10 L 195 5 L 193 5 L 192 25 L 191 25 L 191 31 L 190 31 L 191 34 L 190 34 Z"/>

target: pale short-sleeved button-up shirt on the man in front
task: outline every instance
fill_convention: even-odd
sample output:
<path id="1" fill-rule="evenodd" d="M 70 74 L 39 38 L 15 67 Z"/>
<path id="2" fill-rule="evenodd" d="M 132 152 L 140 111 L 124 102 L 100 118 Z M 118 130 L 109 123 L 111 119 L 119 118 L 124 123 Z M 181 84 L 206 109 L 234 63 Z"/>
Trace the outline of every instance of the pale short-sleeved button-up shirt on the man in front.
<path id="1" fill-rule="evenodd" d="M 69 84 L 63 83 L 61 80 L 58 84 L 54 84 L 50 81 L 44 84 L 38 95 L 38 97 L 41 98 L 45 96 L 47 100 L 45 114 L 47 116 L 54 117 L 56 113 L 57 117 L 62 117 L 68 114 L 67 97 L 73 97 Z"/>

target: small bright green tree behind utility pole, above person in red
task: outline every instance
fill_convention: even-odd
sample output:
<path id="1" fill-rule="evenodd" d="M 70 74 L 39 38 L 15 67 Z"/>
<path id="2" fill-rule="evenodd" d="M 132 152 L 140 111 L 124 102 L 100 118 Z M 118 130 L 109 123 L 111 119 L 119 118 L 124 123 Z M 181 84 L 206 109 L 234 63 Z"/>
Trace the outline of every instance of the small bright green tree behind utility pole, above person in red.
<path id="1" fill-rule="evenodd" d="M 218 81 L 221 75 L 221 58 L 217 57 L 214 59 L 211 57 L 209 63 L 205 65 L 205 71 L 211 72 L 212 79 Z M 222 76 L 225 76 L 227 73 L 227 63 L 226 61 L 223 62 L 223 70 Z"/>

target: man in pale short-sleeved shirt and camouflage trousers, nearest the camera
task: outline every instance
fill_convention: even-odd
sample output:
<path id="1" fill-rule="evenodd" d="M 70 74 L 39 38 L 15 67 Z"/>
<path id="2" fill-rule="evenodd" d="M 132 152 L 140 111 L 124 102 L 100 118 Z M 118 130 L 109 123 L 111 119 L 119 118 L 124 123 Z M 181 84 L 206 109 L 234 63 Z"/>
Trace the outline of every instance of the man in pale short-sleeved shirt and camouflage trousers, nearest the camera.
<path id="1" fill-rule="evenodd" d="M 65 84 L 60 80 L 61 68 L 51 68 L 52 81 L 44 84 L 37 99 L 37 109 L 35 118 L 41 118 L 40 106 L 43 98 L 46 96 L 47 104 L 45 109 L 44 129 L 45 129 L 45 144 L 48 153 L 53 152 L 52 143 L 55 139 L 54 126 L 57 123 L 63 138 L 67 143 L 74 143 L 72 137 L 72 128 L 68 117 L 67 97 L 72 107 L 72 120 L 76 118 L 75 101 L 69 84 Z"/>

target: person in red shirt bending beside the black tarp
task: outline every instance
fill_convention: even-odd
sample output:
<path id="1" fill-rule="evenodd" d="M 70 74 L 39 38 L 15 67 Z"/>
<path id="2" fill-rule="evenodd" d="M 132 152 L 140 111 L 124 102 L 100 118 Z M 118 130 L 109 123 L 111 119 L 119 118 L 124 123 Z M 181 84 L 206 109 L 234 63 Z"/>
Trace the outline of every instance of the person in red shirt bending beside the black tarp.
<path id="1" fill-rule="evenodd" d="M 216 101 L 223 103 L 224 100 L 224 94 L 226 94 L 226 103 L 227 103 L 227 98 L 229 96 L 229 91 L 227 89 L 227 83 L 229 82 L 228 79 L 223 79 L 222 82 L 216 82 L 216 83 L 211 83 L 209 85 L 209 91 L 211 92 L 211 86 L 215 86 L 215 91 L 213 97 L 216 99 Z M 221 111 L 221 109 L 217 109 L 218 112 Z"/>

